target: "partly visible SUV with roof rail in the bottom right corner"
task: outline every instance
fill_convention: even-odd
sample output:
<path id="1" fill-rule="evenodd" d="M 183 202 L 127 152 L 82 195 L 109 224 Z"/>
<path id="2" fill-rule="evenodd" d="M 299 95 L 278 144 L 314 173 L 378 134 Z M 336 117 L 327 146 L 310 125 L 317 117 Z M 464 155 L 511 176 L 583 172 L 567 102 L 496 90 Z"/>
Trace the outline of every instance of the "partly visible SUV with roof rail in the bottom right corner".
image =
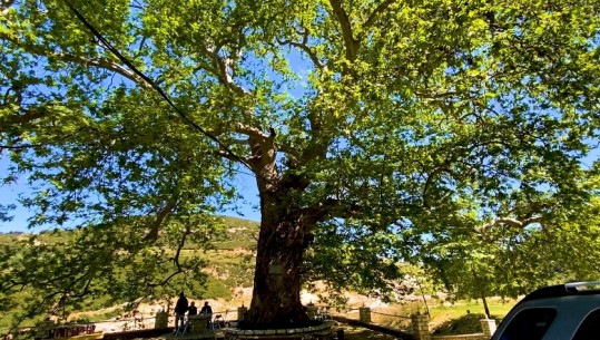
<path id="1" fill-rule="evenodd" d="M 533 291 L 502 320 L 492 340 L 600 339 L 600 281 Z"/>

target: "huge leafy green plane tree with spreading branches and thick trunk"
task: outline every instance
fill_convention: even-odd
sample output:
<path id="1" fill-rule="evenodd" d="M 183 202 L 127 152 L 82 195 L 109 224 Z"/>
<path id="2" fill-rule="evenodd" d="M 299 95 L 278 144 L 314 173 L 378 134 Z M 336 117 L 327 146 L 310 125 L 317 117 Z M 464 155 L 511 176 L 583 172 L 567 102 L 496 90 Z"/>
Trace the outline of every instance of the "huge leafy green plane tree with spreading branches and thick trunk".
<path id="1" fill-rule="evenodd" d="M 593 194 L 594 1 L 0 6 L 4 181 L 29 184 L 31 225 L 80 227 L 4 253 L 0 288 L 42 305 L 199 271 L 159 250 L 206 242 L 239 173 L 262 216 L 247 327 L 305 322 L 304 280 L 383 292 L 460 216 L 539 227 Z"/>

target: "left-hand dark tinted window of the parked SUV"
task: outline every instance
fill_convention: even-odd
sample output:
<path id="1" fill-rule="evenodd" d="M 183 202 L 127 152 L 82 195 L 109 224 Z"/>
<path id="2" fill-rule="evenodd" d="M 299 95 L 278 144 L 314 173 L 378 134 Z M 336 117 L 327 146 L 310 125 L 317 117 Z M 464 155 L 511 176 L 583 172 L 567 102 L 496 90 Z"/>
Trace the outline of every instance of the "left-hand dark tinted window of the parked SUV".
<path id="1" fill-rule="evenodd" d="M 500 340 L 541 340 L 554 317 L 553 308 L 524 309 L 510 320 Z"/>

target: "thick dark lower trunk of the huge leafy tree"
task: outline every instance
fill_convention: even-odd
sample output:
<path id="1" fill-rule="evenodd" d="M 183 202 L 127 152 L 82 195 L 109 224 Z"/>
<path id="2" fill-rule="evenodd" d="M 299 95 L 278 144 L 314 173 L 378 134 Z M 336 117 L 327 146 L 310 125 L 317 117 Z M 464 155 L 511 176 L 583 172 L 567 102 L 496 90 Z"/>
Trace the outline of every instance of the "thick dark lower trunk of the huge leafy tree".
<path id="1" fill-rule="evenodd" d="M 254 291 L 246 329 L 297 328 L 308 323 L 301 302 L 306 225 L 288 190 L 260 192 Z"/>

